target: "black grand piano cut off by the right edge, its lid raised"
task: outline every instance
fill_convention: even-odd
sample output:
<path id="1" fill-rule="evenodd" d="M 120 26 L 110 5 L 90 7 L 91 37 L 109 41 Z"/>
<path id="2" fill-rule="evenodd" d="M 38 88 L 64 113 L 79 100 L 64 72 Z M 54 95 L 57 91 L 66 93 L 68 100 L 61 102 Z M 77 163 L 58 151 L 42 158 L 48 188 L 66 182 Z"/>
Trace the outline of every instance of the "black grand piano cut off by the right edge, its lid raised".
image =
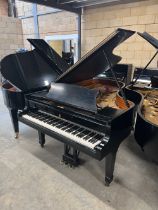
<path id="1" fill-rule="evenodd" d="M 158 163 L 158 71 L 148 66 L 158 54 L 158 40 L 147 32 L 138 33 L 155 49 L 144 68 L 137 68 L 131 89 L 142 95 L 137 107 L 134 136 L 148 158 Z"/>

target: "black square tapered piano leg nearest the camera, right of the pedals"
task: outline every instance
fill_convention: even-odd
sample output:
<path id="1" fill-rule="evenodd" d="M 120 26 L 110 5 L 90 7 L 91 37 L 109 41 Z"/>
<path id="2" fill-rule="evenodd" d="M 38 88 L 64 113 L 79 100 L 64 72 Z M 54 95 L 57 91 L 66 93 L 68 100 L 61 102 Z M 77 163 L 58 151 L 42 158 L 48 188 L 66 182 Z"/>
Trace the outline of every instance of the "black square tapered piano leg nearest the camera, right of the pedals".
<path id="1" fill-rule="evenodd" d="M 109 186 L 113 181 L 113 173 L 115 168 L 116 153 L 111 152 L 105 157 L 105 185 Z"/>

